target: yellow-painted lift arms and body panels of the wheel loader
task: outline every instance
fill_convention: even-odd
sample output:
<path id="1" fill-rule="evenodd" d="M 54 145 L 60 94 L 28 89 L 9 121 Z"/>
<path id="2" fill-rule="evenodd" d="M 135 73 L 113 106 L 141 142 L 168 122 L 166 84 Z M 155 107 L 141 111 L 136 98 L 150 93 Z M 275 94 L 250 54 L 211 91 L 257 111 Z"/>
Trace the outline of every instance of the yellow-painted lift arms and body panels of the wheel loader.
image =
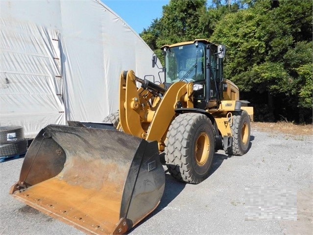
<path id="1" fill-rule="evenodd" d="M 120 75 L 120 123 L 117 128 L 145 140 L 158 141 L 159 151 L 163 152 L 169 126 L 178 115 L 175 112 L 177 103 L 180 102 L 183 108 L 193 108 L 193 82 L 173 83 L 160 97 L 152 90 L 138 89 L 134 71 L 128 71 L 126 78 L 123 74 Z M 232 113 L 246 110 L 253 121 L 253 107 L 238 104 L 241 103 L 238 87 L 229 80 L 226 84 L 223 92 L 226 99 L 221 101 L 218 109 L 205 111 L 222 136 L 231 136 L 229 122 L 232 122 Z"/>

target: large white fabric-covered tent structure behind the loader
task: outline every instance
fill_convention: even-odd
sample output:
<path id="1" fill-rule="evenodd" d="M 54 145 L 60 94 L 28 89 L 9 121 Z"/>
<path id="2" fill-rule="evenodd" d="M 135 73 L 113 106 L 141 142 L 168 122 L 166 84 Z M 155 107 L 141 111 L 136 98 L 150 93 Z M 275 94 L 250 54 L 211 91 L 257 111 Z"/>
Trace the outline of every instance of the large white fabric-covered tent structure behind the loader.
<path id="1" fill-rule="evenodd" d="M 101 122 L 118 109 L 122 70 L 159 79 L 152 53 L 98 0 L 1 0 L 0 125 L 34 137 L 48 124 Z"/>

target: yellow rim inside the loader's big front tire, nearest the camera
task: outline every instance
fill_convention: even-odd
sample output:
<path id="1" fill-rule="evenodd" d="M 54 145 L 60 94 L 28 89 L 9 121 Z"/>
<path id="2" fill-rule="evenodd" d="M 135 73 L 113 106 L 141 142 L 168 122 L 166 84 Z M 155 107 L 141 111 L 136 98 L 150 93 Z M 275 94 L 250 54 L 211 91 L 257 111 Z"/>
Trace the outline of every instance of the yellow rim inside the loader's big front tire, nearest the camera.
<path id="1" fill-rule="evenodd" d="M 206 132 L 201 132 L 195 142 L 194 154 L 197 164 L 202 166 L 209 156 L 209 137 Z"/>

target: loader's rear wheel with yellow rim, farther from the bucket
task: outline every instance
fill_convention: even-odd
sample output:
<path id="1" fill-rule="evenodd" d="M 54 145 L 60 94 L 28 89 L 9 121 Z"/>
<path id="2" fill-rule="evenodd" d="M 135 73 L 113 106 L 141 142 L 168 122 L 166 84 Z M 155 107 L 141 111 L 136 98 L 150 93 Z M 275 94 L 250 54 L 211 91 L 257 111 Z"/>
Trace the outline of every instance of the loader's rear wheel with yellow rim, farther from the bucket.
<path id="1" fill-rule="evenodd" d="M 247 111 L 233 113 L 233 121 L 231 123 L 230 129 L 232 131 L 232 146 L 228 148 L 226 154 L 242 156 L 246 154 L 249 150 L 250 143 L 250 117 Z"/>

